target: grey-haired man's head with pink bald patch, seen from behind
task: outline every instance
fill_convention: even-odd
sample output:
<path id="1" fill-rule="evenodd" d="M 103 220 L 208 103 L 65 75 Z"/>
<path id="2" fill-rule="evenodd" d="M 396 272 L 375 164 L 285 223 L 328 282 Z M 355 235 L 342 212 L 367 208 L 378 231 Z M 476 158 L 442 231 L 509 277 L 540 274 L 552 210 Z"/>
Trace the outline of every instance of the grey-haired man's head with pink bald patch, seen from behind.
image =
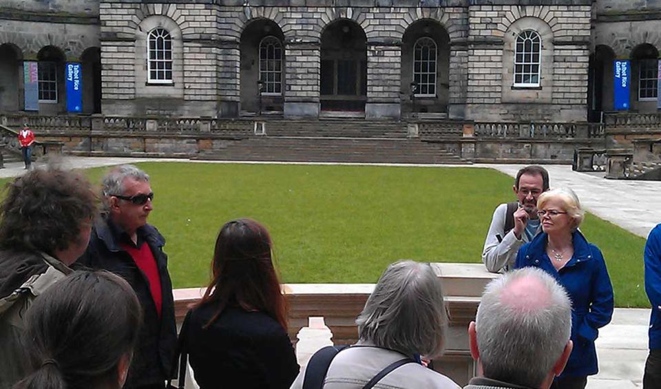
<path id="1" fill-rule="evenodd" d="M 476 317 L 485 377 L 539 388 L 571 335 L 571 302 L 536 268 L 505 273 L 485 288 Z"/>

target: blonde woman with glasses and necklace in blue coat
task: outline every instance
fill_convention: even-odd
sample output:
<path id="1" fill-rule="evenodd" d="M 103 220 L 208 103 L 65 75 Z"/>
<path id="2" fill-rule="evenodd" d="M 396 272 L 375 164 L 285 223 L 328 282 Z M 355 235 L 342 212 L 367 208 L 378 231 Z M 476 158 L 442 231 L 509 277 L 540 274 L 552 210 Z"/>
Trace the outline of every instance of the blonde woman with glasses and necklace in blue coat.
<path id="1" fill-rule="evenodd" d="M 553 388 L 585 388 L 598 372 L 594 341 L 598 328 L 611 321 L 613 286 L 601 251 L 578 231 L 584 211 L 571 189 L 554 189 L 537 200 L 543 233 L 521 246 L 516 268 L 535 266 L 552 274 L 571 297 L 572 350 Z"/>

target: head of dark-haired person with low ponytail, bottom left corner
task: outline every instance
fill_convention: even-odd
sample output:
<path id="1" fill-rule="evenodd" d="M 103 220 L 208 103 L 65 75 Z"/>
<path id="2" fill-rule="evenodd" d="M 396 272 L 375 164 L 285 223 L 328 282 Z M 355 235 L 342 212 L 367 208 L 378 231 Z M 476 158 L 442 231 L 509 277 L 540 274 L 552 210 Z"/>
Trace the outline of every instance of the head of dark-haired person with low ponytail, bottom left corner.
<path id="1" fill-rule="evenodd" d="M 133 289 L 105 271 L 76 271 L 28 311 L 33 372 L 19 389 L 117 389 L 124 385 L 140 326 Z"/>

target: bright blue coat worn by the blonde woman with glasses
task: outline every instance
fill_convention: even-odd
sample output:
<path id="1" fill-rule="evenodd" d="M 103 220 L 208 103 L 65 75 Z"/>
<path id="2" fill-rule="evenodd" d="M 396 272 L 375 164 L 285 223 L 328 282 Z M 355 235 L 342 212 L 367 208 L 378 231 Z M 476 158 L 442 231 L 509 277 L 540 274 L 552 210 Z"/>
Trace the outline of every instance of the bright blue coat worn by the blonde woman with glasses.
<path id="1" fill-rule="evenodd" d="M 574 256 L 556 271 L 546 254 L 548 235 L 541 233 L 524 244 L 516 255 L 515 268 L 535 266 L 553 275 L 571 298 L 571 340 L 574 350 L 560 377 L 584 377 L 598 372 L 594 341 L 598 328 L 611 321 L 613 286 L 601 251 L 582 233 L 572 233 Z"/>

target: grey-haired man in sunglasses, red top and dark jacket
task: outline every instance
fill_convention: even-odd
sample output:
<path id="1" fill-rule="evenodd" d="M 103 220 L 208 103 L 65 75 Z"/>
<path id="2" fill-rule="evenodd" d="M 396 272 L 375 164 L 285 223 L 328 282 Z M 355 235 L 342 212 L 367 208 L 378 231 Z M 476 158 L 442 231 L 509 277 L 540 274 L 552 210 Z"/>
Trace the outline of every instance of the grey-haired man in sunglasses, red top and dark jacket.
<path id="1" fill-rule="evenodd" d="M 133 165 L 113 168 L 103 178 L 101 218 L 78 263 L 124 277 L 143 307 L 124 388 L 165 388 L 176 348 L 172 284 L 167 272 L 165 239 L 147 224 L 154 192 L 149 176 Z"/>

